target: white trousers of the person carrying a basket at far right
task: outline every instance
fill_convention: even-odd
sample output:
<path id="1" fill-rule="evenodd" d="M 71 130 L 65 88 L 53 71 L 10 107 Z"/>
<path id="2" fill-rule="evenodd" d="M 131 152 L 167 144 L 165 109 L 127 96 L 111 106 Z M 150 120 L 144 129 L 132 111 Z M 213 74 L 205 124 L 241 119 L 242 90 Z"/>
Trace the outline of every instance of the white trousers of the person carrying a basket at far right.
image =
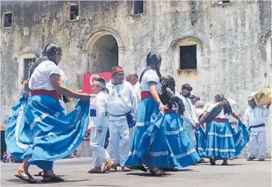
<path id="1" fill-rule="evenodd" d="M 259 148 L 259 157 L 266 156 L 266 132 L 265 131 L 251 131 L 248 141 L 248 152 L 250 157 L 256 157 L 257 148 Z"/>

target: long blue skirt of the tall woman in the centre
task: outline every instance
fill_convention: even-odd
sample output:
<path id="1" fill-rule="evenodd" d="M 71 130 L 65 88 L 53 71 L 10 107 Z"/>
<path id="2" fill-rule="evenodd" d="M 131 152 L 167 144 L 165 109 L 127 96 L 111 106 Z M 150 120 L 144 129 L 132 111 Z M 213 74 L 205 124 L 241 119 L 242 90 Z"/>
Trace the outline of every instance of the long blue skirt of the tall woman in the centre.
<path id="1" fill-rule="evenodd" d="M 169 165 L 165 129 L 156 126 L 156 117 L 159 113 L 158 104 L 151 98 L 140 101 L 137 110 L 134 138 L 125 161 L 125 166 L 158 167 Z M 161 125 L 161 123 L 158 123 Z M 148 132 L 147 132 L 148 131 Z M 147 133 L 145 133 L 147 132 Z M 156 132 L 156 133 L 154 133 Z M 153 133 L 151 138 L 149 134 Z M 146 139 L 143 141 L 143 135 Z"/>

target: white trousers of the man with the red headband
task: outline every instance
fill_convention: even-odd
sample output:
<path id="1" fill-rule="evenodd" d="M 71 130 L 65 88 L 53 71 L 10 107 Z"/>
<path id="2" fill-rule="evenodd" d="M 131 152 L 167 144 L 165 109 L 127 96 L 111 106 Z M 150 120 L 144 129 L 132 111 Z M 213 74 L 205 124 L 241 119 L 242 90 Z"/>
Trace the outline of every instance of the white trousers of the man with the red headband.
<path id="1" fill-rule="evenodd" d="M 129 155 L 131 144 L 127 119 L 109 121 L 109 145 L 107 151 L 111 159 L 115 159 L 115 162 L 119 163 L 121 167 L 124 166 Z"/>

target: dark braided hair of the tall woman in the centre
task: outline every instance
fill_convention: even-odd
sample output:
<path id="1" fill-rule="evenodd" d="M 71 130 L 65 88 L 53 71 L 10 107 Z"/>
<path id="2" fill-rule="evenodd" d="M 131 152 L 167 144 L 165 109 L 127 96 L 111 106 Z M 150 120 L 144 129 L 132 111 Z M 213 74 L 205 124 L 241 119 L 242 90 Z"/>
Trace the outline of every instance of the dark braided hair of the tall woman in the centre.
<path id="1" fill-rule="evenodd" d="M 159 69 L 159 65 L 161 64 L 161 55 L 159 55 L 157 52 L 150 52 L 147 55 L 147 68 L 143 70 L 142 74 L 140 75 L 140 82 L 143 79 L 143 75 L 147 70 L 154 70 L 156 71 L 158 78 L 160 78 L 161 81 L 161 72 Z"/>

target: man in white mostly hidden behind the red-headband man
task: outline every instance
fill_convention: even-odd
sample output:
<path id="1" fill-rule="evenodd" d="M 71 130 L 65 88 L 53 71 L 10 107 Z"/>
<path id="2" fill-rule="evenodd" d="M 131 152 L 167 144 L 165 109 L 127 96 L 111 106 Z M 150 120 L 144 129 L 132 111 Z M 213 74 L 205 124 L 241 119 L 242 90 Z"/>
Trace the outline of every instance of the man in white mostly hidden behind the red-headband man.
<path id="1" fill-rule="evenodd" d="M 133 88 L 134 88 L 134 92 L 136 94 L 137 97 L 137 102 L 138 104 L 140 104 L 140 82 L 138 79 L 138 75 L 136 74 L 136 72 L 130 72 L 129 75 L 127 75 L 127 81 L 129 83 L 132 84 Z M 134 126 L 132 128 L 129 128 L 130 130 L 130 137 L 131 140 L 133 141 L 133 137 L 134 137 Z"/>

